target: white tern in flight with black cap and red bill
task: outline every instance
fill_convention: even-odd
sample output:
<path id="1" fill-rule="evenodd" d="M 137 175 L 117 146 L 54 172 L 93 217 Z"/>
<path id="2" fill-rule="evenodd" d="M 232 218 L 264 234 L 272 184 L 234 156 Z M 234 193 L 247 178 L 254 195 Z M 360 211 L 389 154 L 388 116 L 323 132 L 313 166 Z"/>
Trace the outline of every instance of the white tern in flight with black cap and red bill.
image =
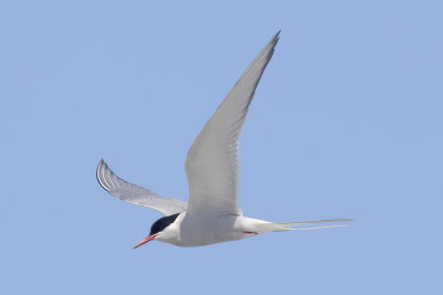
<path id="1" fill-rule="evenodd" d="M 239 197 L 239 136 L 258 82 L 270 61 L 280 31 L 266 44 L 230 89 L 188 150 L 185 170 L 189 186 L 188 202 L 166 198 L 117 177 L 101 159 L 99 183 L 110 194 L 164 214 L 150 234 L 134 249 L 161 241 L 177 246 L 204 246 L 238 241 L 267 232 L 343 226 L 332 219 L 276 223 L 244 215 Z M 311 226 L 309 224 L 333 223 Z M 306 226 L 309 225 L 309 226 Z"/>

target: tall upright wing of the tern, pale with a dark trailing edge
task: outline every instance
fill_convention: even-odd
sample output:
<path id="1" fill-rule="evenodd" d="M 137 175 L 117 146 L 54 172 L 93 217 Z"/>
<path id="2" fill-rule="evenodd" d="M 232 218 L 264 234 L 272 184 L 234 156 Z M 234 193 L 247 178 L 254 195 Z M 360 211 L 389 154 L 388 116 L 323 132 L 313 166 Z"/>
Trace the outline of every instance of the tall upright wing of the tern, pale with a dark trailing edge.
<path id="1" fill-rule="evenodd" d="M 248 66 L 190 147 L 185 164 L 188 214 L 241 214 L 238 138 L 279 33 Z"/>

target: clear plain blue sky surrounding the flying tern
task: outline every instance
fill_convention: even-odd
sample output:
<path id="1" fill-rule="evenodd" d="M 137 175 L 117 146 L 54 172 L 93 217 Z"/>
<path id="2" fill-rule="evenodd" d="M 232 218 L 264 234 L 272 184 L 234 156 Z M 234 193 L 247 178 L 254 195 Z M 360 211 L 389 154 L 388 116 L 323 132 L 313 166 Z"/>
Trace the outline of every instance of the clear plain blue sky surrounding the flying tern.
<path id="1" fill-rule="evenodd" d="M 1 294 L 443 294 L 441 1 L 2 1 Z M 132 247 L 188 198 L 195 136 L 281 29 L 240 207 L 349 228 Z"/>

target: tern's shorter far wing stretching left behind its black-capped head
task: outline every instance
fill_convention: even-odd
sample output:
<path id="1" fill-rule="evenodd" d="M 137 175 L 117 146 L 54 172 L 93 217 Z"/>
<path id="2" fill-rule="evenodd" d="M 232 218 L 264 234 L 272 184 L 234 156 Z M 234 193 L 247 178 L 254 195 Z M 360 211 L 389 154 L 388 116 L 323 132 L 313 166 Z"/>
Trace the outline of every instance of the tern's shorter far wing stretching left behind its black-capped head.
<path id="1" fill-rule="evenodd" d="M 172 215 L 186 211 L 186 202 L 158 196 L 148 189 L 124 181 L 114 175 L 104 160 L 100 160 L 99 162 L 96 177 L 99 183 L 109 193 L 123 201 L 152 208 L 165 215 Z"/>

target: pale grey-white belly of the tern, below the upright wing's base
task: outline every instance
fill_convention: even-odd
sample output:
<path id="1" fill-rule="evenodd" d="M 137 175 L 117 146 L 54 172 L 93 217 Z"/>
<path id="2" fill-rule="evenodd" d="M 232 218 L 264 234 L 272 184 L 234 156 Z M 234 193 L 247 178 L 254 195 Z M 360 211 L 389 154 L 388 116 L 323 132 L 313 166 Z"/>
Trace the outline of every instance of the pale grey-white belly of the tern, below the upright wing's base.
<path id="1" fill-rule="evenodd" d="M 236 219 L 236 215 L 218 218 L 186 215 L 181 224 L 181 236 L 176 245 L 202 246 L 240 240 L 244 235 L 234 228 Z"/>

